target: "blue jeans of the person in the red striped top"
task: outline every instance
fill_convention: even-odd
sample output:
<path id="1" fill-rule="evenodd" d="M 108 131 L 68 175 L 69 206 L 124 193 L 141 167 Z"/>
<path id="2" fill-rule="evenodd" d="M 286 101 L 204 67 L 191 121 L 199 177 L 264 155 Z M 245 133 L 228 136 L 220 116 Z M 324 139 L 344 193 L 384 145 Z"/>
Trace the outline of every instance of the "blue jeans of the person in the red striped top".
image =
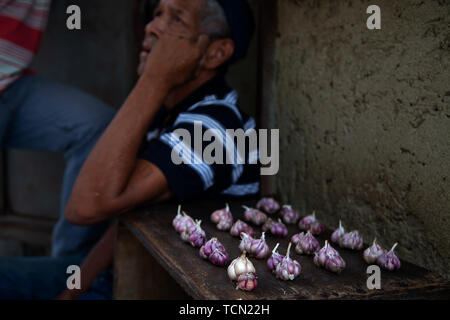
<path id="1" fill-rule="evenodd" d="M 113 117 L 114 110 L 100 100 L 35 75 L 18 79 L 0 94 L 0 147 L 64 153 L 60 218 L 52 239 L 55 263 L 85 256 L 108 227 L 107 222 L 72 225 L 64 208 L 85 159 Z M 0 282 L 1 277 L 0 264 Z"/>

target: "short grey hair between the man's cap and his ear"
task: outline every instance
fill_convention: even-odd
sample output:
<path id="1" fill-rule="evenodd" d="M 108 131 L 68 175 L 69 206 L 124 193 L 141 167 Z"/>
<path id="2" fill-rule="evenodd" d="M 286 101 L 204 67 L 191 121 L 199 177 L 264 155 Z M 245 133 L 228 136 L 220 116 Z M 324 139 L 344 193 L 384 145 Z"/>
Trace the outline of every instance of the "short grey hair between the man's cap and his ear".
<path id="1" fill-rule="evenodd" d="M 229 38 L 231 36 L 227 17 L 217 0 L 205 0 L 200 9 L 199 23 L 201 31 L 212 38 Z"/>

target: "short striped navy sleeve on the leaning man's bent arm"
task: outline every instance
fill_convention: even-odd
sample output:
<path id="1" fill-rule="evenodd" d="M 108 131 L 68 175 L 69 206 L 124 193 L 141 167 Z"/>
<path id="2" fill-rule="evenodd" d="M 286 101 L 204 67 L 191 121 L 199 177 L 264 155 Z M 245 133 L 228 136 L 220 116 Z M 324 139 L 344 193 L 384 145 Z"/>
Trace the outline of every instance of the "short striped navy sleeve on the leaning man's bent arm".
<path id="1" fill-rule="evenodd" d="M 242 175 L 243 165 L 227 164 L 225 158 L 227 148 L 234 148 L 226 129 L 239 127 L 240 122 L 229 111 L 217 107 L 212 115 L 212 108 L 180 113 L 172 127 L 152 140 L 140 154 L 140 158 L 163 172 L 179 200 L 220 194 Z M 210 132 L 208 141 L 203 139 L 207 131 Z M 216 146 L 214 151 L 212 143 Z M 208 160 L 207 154 L 218 158 L 222 155 L 222 162 Z"/>

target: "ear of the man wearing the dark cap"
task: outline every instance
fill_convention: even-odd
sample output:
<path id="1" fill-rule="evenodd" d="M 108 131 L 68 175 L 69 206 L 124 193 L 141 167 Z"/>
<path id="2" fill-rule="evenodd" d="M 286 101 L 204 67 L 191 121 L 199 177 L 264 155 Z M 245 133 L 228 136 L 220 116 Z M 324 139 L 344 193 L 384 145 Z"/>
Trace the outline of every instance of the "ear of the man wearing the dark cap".
<path id="1" fill-rule="evenodd" d="M 203 57 L 204 69 L 217 69 L 231 59 L 234 53 L 234 42 L 231 39 L 215 39 L 211 42 Z"/>

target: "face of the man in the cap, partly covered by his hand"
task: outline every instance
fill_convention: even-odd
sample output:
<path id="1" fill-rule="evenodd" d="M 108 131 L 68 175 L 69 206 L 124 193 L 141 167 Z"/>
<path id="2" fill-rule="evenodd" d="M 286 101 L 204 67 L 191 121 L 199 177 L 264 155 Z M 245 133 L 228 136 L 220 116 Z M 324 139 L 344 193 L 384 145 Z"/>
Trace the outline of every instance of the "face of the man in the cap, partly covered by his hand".
<path id="1" fill-rule="evenodd" d="M 161 0 L 154 18 L 145 27 L 139 55 L 138 74 L 142 75 L 147 56 L 163 33 L 191 38 L 200 33 L 199 12 L 205 0 Z"/>

